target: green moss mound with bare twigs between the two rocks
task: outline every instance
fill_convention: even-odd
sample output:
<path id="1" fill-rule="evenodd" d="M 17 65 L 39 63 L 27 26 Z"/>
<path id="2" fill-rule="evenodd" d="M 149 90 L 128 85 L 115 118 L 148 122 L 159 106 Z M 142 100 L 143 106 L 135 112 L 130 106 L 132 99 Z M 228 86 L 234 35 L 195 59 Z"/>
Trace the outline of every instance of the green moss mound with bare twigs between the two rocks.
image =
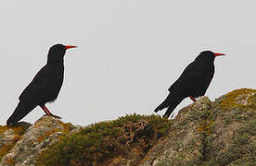
<path id="1" fill-rule="evenodd" d="M 134 157 L 140 160 L 171 125 L 160 116 L 138 114 L 90 125 L 79 133 L 63 136 L 39 156 L 38 164 L 95 165 L 118 156 L 128 158 L 131 151 L 139 153 Z"/>

